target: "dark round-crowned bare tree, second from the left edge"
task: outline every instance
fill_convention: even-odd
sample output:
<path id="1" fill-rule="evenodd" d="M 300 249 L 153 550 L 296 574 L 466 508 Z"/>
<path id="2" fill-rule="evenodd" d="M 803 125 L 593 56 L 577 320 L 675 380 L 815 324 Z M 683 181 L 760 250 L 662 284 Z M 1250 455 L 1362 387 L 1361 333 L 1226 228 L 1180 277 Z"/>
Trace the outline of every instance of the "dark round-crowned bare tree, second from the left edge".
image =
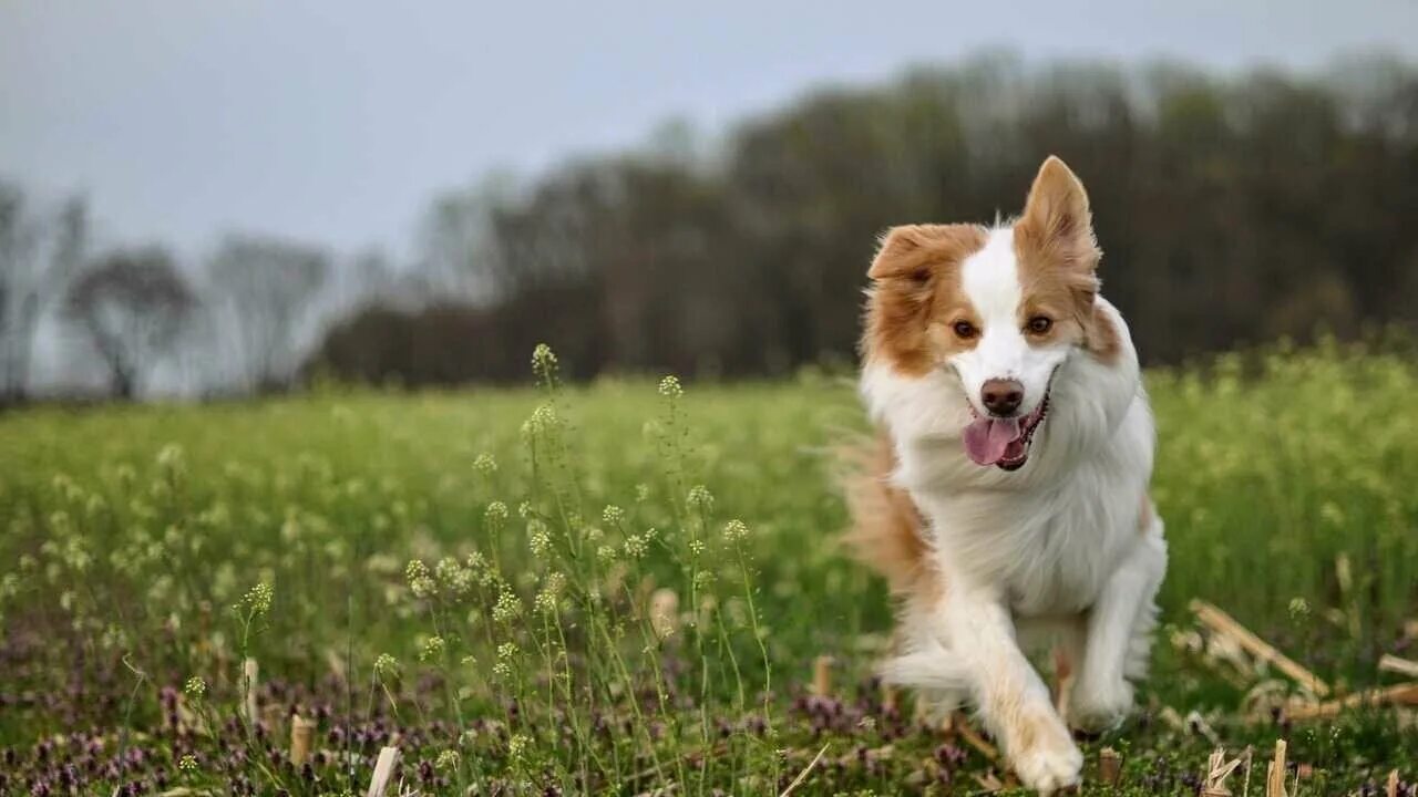
<path id="1" fill-rule="evenodd" d="M 194 306 L 172 255 L 152 247 L 101 260 L 72 285 L 67 311 L 108 366 L 112 394 L 133 398 Z"/>

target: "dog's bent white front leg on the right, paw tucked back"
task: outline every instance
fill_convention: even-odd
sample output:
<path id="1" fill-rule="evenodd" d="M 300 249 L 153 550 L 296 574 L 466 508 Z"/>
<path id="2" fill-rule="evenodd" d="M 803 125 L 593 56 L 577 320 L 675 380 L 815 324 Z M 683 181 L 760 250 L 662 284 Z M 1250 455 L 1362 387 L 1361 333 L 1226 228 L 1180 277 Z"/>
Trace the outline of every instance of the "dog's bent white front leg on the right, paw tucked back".
<path id="1" fill-rule="evenodd" d="M 1076 674 L 1069 722 L 1088 730 L 1117 726 L 1133 706 L 1129 678 L 1147 668 L 1151 631 L 1157 624 L 1153 598 L 1167 569 L 1161 520 L 1139 540 L 1109 577 L 1088 618 L 1082 667 Z"/>

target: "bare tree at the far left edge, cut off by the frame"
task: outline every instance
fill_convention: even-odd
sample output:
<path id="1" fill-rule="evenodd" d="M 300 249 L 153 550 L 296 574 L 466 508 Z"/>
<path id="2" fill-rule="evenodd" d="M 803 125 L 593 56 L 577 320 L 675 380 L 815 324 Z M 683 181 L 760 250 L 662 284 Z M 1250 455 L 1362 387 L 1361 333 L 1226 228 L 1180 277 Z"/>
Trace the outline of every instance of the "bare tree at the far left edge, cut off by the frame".
<path id="1" fill-rule="evenodd" d="M 35 329 L 84 261 L 86 237 L 82 199 L 37 217 L 20 187 L 0 180 L 0 403 L 24 397 Z"/>

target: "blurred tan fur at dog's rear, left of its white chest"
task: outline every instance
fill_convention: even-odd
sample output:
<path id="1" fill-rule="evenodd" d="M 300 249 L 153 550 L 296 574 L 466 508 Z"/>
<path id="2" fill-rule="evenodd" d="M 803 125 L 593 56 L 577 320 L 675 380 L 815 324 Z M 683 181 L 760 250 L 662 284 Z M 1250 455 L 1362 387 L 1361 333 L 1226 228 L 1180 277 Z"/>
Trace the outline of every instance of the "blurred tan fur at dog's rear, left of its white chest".
<path id="1" fill-rule="evenodd" d="M 852 516 L 848 546 L 886 577 L 892 594 L 920 597 L 934 587 L 936 567 L 920 512 L 906 491 L 891 482 L 896 469 L 891 435 L 879 433 L 842 454 L 842 486 Z"/>

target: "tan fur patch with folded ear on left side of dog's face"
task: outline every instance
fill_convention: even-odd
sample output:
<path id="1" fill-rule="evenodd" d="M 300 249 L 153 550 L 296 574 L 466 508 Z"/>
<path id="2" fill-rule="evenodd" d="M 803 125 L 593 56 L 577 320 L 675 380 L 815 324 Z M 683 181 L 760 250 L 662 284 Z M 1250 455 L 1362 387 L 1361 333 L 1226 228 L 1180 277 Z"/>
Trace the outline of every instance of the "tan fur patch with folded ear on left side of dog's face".
<path id="1" fill-rule="evenodd" d="M 959 321 L 980 325 L 960 284 L 960 264 L 984 248 L 987 237 L 977 224 L 909 224 L 888 231 L 866 272 L 872 288 L 864 357 L 883 357 L 898 372 L 920 376 L 971 349 L 978 338 L 954 333 Z"/>

